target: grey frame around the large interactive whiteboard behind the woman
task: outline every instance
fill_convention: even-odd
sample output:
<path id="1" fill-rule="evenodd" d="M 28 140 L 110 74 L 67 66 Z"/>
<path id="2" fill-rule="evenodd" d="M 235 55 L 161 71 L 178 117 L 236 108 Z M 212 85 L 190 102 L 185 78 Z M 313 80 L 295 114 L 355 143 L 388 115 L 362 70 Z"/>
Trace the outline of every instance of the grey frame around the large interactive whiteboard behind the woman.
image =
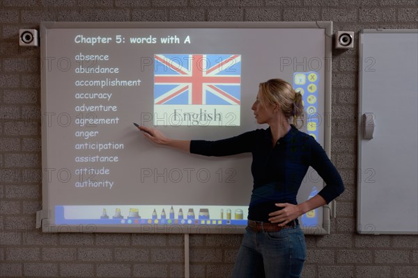
<path id="1" fill-rule="evenodd" d="M 40 23 L 40 59 L 46 57 L 47 32 L 49 28 L 322 28 L 325 29 L 325 59 L 330 61 L 329 70 L 325 70 L 324 76 L 324 113 L 331 115 L 332 104 L 332 22 L 41 22 Z M 41 60 L 42 63 L 42 60 Z M 40 72 L 41 81 L 41 113 L 45 115 L 47 107 L 47 76 L 46 67 Z M 324 129 L 323 149 L 328 156 L 331 151 L 331 118 Z M 245 227 L 235 229 L 205 229 L 204 227 L 186 227 L 185 229 L 170 230 L 167 225 L 152 225 L 149 229 L 139 231 L 138 227 L 111 227 L 100 225 L 58 225 L 49 221 L 48 182 L 47 182 L 47 126 L 42 124 L 42 210 L 36 214 L 36 227 L 43 232 L 125 232 L 125 233 L 162 233 L 162 234 L 244 234 Z M 330 234 L 330 215 L 334 215 L 334 201 L 323 206 L 322 226 L 303 228 L 304 234 Z M 98 229 L 95 229 L 98 228 Z"/>

